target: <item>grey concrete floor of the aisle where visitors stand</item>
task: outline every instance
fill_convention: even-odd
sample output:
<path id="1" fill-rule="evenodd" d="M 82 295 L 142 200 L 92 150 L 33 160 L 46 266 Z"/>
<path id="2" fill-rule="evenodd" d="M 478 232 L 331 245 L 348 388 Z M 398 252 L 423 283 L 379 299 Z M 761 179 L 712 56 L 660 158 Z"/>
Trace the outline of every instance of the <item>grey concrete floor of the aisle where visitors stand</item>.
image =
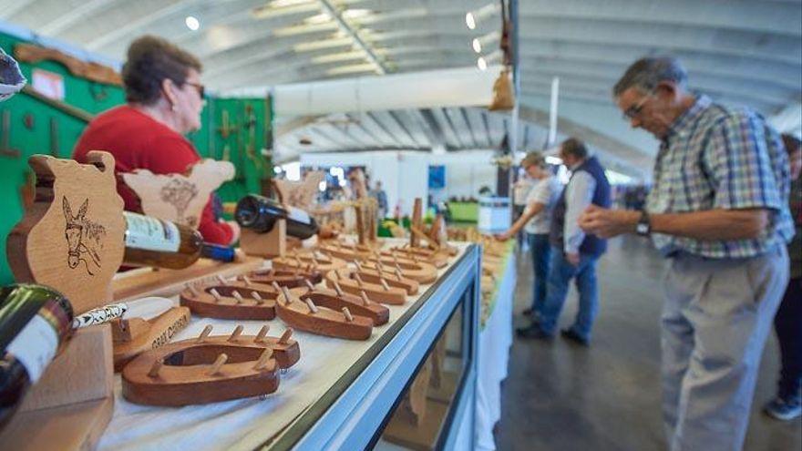
<path id="1" fill-rule="evenodd" d="M 611 241 L 599 264 L 601 308 L 590 348 L 515 339 L 502 385 L 499 450 L 649 451 L 666 449 L 660 414 L 660 278 L 663 260 L 643 240 Z M 531 264 L 518 256 L 515 325 L 530 303 Z M 560 325 L 576 312 L 571 292 Z M 802 422 L 760 413 L 774 395 L 778 368 L 772 333 L 760 367 L 746 451 L 802 449 Z M 700 450 L 703 451 L 703 450 Z"/>

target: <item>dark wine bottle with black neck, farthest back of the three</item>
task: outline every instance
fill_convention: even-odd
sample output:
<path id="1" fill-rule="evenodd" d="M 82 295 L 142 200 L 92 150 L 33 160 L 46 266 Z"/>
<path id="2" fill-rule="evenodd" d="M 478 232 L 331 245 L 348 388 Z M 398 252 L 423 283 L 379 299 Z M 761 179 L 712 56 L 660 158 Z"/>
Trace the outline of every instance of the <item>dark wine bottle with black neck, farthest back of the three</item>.
<path id="1" fill-rule="evenodd" d="M 266 233 L 272 231 L 277 220 L 286 220 L 287 235 L 306 240 L 317 233 L 317 222 L 306 211 L 283 206 L 256 194 L 249 194 L 237 202 L 234 219 L 242 227 Z"/>

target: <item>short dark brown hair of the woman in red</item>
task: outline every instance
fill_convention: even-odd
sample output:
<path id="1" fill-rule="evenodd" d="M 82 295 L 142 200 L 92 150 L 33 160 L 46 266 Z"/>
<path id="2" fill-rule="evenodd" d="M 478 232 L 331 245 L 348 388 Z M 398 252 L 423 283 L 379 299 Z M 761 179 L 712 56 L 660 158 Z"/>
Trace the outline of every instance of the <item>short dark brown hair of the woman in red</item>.
<path id="1" fill-rule="evenodd" d="M 126 100 L 152 105 L 159 100 L 165 79 L 182 86 L 190 68 L 200 72 L 200 61 L 189 52 L 157 36 L 142 36 L 131 43 L 122 67 Z"/>

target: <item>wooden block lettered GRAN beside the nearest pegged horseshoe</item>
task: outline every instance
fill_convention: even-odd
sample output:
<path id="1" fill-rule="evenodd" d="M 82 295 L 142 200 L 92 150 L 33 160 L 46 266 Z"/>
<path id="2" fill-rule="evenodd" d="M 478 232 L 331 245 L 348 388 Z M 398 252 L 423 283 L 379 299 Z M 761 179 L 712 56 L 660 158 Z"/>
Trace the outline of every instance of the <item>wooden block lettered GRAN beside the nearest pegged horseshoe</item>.
<path id="1" fill-rule="evenodd" d="M 149 321 L 141 318 L 112 321 L 114 371 L 122 370 L 137 355 L 170 343 L 170 338 L 189 323 L 187 307 L 174 307 Z"/>

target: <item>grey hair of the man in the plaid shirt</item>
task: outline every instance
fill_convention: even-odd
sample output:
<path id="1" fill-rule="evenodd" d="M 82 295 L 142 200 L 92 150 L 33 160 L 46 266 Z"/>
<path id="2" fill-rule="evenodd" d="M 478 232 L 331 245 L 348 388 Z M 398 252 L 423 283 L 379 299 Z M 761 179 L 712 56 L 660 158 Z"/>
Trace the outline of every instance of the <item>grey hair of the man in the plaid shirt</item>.
<path id="1" fill-rule="evenodd" d="M 684 88 L 688 82 L 688 73 L 673 56 L 643 57 L 624 72 L 618 83 L 612 87 L 612 95 L 619 97 L 630 87 L 635 87 L 644 94 L 650 93 L 661 81 L 673 81 L 678 87 Z"/>

